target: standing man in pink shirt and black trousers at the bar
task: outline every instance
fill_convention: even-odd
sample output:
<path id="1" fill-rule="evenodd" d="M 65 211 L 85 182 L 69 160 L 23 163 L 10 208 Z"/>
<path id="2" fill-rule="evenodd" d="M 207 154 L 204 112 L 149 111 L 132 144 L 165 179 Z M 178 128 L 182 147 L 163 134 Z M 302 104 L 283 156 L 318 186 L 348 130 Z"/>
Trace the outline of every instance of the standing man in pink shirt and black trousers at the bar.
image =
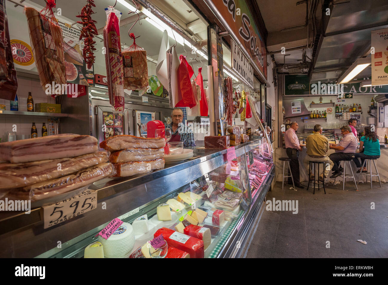
<path id="1" fill-rule="evenodd" d="M 302 148 L 300 147 L 298 136 L 296 136 L 298 128 L 298 123 L 292 122 L 290 124 L 290 128 L 284 133 L 284 143 L 286 144 L 287 156 L 291 159 L 290 167 L 294 179 L 294 185 L 298 188 L 305 188 L 301 185 L 299 180 L 299 151 L 302 151 Z M 289 169 L 288 175 L 290 175 Z M 288 184 L 292 184 L 291 177 L 288 178 Z"/>

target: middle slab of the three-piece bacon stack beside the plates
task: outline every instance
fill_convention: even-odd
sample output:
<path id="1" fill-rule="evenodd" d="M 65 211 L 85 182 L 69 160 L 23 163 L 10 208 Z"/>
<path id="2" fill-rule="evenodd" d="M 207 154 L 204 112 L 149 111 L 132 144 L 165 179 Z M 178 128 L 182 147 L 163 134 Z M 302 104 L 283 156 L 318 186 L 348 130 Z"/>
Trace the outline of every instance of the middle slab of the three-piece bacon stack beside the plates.
<path id="1" fill-rule="evenodd" d="M 163 147 L 159 149 L 142 149 L 142 148 L 133 148 L 133 149 L 124 149 L 117 152 L 113 152 L 109 156 L 109 161 L 113 163 L 120 162 L 130 162 L 130 161 L 149 161 L 155 160 L 158 158 L 163 158 L 165 150 Z"/>

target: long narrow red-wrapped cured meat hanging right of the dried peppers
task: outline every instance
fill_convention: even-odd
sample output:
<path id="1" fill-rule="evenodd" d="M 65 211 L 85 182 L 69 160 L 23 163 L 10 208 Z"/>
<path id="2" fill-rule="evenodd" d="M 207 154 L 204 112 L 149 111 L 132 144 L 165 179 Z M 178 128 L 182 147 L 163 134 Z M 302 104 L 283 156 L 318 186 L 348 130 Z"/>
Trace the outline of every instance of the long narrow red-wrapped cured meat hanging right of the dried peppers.
<path id="1" fill-rule="evenodd" d="M 108 81 L 109 102 L 114 113 L 124 112 L 123 58 L 120 43 L 121 13 L 109 6 L 105 8 L 104 46 L 106 47 L 105 65 Z"/>

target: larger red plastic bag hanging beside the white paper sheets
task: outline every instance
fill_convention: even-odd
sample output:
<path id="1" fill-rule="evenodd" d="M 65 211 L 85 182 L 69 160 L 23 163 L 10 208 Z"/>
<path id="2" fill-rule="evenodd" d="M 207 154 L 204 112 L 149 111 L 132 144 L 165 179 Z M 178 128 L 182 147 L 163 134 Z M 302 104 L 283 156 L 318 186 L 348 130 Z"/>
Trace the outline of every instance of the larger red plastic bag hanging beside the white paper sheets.
<path id="1" fill-rule="evenodd" d="M 180 100 L 174 107 L 194 107 L 196 105 L 194 93 L 191 86 L 190 78 L 194 74 L 191 66 L 183 55 L 180 55 L 180 64 L 178 69 L 178 81 L 180 85 L 180 92 L 182 100 Z M 190 66 L 191 70 L 187 66 Z"/>

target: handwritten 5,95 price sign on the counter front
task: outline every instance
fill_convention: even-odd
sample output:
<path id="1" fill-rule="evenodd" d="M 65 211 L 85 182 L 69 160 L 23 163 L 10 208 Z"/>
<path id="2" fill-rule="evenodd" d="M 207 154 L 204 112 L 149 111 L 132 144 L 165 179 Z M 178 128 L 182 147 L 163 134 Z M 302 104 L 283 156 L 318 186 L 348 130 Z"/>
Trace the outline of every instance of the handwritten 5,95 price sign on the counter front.
<path id="1" fill-rule="evenodd" d="M 44 228 L 50 228 L 69 219 L 80 216 L 97 207 L 97 191 L 86 190 L 80 195 L 43 206 Z"/>

